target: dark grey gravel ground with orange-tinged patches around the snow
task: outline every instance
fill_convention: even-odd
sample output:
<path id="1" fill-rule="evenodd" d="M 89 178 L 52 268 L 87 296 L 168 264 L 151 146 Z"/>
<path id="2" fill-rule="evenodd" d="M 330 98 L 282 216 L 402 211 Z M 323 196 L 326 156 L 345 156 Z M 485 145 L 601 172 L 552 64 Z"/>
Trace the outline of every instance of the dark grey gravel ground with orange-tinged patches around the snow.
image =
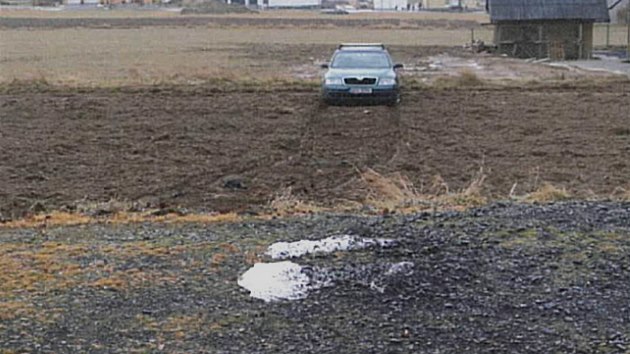
<path id="1" fill-rule="evenodd" d="M 495 203 L 437 215 L 0 230 L 0 348 L 42 353 L 625 353 L 630 204 Z M 371 247 L 293 259 L 303 300 L 237 285 L 275 241 Z M 389 265 L 411 262 L 401 272 Z M 405 263 L 409 265 L 409 263 Z"/>

